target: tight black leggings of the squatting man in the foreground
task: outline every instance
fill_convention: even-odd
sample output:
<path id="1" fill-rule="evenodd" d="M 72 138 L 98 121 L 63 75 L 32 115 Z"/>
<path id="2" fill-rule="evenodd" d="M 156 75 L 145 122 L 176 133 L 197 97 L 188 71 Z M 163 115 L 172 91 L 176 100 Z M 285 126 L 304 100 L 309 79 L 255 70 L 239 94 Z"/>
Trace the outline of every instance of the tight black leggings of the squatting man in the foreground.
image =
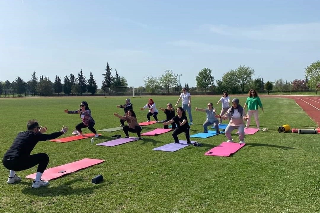
<path id="1" fill-rule="evenodd" d="M 45 153 L 23 156 L 19 158 L 14 158 L 12 160 L 8 159 L 10 159 L 10 157 L 4 157 L 2 159 L 2 163 L 5 168 L 13 171 L 22 171 L 30 169 L 35 165 L 39 164 L 37 172 L 43 173 L 49 163 L 49 156 Z"/>

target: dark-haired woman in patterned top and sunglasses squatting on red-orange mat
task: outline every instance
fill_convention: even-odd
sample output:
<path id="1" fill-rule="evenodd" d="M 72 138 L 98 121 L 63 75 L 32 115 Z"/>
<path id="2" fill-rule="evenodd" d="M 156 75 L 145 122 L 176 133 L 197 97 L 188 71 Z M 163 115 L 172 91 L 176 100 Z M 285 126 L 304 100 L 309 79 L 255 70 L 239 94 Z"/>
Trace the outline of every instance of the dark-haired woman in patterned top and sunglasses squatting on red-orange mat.
<path id="1" fill-rule="evenodd" d="M 77 135 L 83 135 L 82 130 L 83 128 L 88 128 L 92 133 L 94 133 L 94 137 L 99 137 L 97 131 L 93 128 L 95 125 L 95 121 L 91 116 L 91 110 L 89 109 L 88 103 L 83 101 L 80 103 L 80 109 L 75 111 L 64 110 L 65 113 L 68 114 L 80 114 L 80 118 L 82 122 L 76 126 L 76 130 L 79 132 Z"/>

